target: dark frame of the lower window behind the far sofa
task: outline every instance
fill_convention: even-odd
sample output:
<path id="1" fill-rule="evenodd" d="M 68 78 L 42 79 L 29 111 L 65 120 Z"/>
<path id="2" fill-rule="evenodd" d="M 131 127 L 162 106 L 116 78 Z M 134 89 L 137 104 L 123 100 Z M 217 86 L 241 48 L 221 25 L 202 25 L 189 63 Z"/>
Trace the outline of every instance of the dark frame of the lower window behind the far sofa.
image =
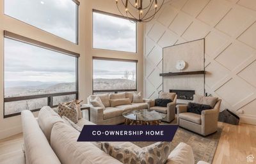
<path id="1" fill-rule="evenodd" d="M 93 78 L 92 78 L 92 94 L 94 93 L 118 93 L 118 92 L 131 92 L 138 91 L 138 60 L 132 59 L 120 59 L 120 58 L 110 58 L 110 57 L 92 57 L 92 60 L 102 60 L 102 61 L 122 61 L 129 63 L 136 63 L 136 89 L 106 89 L 106 90 L 94 90 L 93 88 Z M 93 62 L 92 62 L 92 77 L 93 77 Z"/>

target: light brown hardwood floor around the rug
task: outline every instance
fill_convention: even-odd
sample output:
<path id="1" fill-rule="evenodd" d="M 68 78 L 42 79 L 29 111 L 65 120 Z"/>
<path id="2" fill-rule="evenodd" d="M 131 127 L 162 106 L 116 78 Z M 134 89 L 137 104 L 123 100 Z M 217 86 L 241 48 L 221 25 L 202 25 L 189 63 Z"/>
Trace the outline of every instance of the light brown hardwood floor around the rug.
<path id="1" fill-rule="evenodd" d="M 250 154 L 255 156 L 252 164 L 256 164 L 256 126 L 225 123 L 219 123 L 218 126 L 223 131 L 212 164 L 245 164 Z M 22 144 L 22 133 L 0 140 L 0 163 L 24 164 Z"/>

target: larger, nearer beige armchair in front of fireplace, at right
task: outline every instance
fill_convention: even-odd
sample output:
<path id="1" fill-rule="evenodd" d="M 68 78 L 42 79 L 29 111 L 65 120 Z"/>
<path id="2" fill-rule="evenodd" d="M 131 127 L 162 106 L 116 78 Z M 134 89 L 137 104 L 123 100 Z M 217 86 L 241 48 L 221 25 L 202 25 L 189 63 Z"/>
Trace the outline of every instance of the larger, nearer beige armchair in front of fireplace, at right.
<path id="1" fill-rule="evenodd" d="M 195 103 L 203 103 L 206 105 L 210 105 L 212 101 L 216 103 L 215 105 L 212 105 L 212 109 L 203 110 L 201 114 L 187 112 L 188 105 L 177 105 L 177 123 L 180 127 L 194 131 L 200 135 L 210 135 L 211 133 L 216 132 L 218 129 L 218 116 L 220 112 L 221 100 L 218 100 L 218 98 L 214 100 L 212 97 L 204 96 L 200 96 L 198 99 L 195 98 L 195 96 L 196 95 L 194 95 L 193 100 Z"/>

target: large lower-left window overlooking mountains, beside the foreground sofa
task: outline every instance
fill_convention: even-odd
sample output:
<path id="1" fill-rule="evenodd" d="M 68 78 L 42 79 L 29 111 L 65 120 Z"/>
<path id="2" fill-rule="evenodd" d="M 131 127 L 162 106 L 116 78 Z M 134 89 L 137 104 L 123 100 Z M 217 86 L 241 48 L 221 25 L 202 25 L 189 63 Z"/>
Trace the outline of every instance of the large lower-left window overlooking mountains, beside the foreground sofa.
<path id="1" fill-rule="evenodd" d="M 15 36 L 12 38 L 10 36 Z M 22 40 L 22 41 L 20 41 Z M 5 31 L 4 117 L 78 98 L 77 56 Z M 46 45 L 46 44 L 45 44 Z M 49 49 L 54 48 L 54 49 Z"/>

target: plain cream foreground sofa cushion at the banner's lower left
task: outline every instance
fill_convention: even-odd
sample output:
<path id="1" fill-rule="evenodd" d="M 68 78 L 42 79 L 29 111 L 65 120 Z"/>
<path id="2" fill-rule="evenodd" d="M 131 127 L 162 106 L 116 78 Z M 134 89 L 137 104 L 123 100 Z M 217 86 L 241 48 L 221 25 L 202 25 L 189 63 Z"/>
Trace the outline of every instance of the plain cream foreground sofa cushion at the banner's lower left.
<path id="1" fill-rule="evenodd" d="M 91 142 L 77 142 L 79 134 L 65 123 L 57 123 L 52 128 L 51 147 L 62 164 L 122 164 Z"/>

